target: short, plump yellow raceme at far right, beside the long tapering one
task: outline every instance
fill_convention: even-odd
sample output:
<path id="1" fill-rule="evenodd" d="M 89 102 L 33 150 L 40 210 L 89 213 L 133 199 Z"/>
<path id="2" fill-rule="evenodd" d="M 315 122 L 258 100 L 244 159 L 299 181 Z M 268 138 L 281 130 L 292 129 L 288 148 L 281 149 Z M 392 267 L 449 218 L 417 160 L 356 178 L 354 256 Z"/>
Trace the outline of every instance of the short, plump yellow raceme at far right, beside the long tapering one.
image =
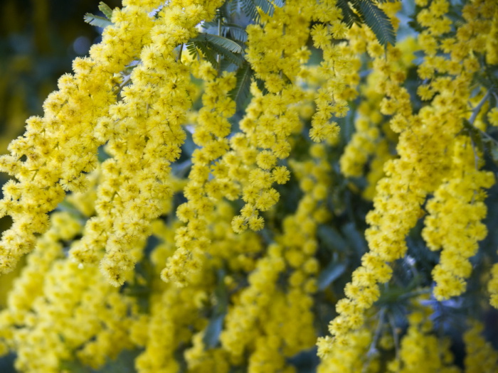
<path id="1" fill-rule="evenodd" d="M 481 222 L 486 216 L 482 188 L 490 188 L 494 175 L 478 171 L 476 151 L 468 137 L 455 139 L 452 171 L 427 204 L 423 237 L 432 250 L 443 248 L 440 262 L 433 270 L 434 296 L 447 299 L 465 291 L 470 277 L 470 257 L 477 253 L 478 242 L 487 235 Z M 457 232 L 466 232 L 465 235 Z M 456 239 L 456 237 L 458 237 Z"/>

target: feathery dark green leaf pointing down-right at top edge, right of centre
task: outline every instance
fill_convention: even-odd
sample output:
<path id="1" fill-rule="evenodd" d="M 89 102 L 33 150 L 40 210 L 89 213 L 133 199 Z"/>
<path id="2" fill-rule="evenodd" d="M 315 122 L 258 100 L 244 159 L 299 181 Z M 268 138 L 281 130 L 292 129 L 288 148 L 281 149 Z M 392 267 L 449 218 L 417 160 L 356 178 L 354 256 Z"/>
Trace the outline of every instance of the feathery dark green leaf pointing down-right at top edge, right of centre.
<path id="1" fill-rule="evenodd" d="M 388 43 L 392 45 L 396 43 L 393 25 L 382 9 L 373 4 L 371 0 L 353 0 L 351 4 L 358 11 L 361 21 L 373 31 L 378 43 L 384 46 L 387 46 Z"/>

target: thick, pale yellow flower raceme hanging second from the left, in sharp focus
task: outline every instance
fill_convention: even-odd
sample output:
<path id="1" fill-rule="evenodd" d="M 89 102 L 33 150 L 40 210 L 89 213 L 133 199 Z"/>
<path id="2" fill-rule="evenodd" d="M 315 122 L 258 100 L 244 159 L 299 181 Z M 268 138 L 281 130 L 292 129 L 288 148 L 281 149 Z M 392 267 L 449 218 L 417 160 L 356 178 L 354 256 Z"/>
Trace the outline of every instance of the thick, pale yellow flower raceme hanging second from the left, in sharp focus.
<path id="1" fill-rule="evenodd" d="M 141 256 L 150 222 L 164 212 L 170 195 L 169 164 L 180 155 L 185 140 L 181 124 L 191 105 L 189 70 L 176 60 L 175 48 L 197 33 L 196 25 L 214 15 L 220 4 L 171 1 L 161 9 L 150 31 L 151 43 L 140 55 L 131 84 L 122 101 L 109 108 L 97 126 L 109 138 L 109 158 L 97 190 L 97 217 L 88 222 L 88 234 L 71 254 L 93 264 L 105 248 L 101 269 L 111 283 L 124 283 Z"/>

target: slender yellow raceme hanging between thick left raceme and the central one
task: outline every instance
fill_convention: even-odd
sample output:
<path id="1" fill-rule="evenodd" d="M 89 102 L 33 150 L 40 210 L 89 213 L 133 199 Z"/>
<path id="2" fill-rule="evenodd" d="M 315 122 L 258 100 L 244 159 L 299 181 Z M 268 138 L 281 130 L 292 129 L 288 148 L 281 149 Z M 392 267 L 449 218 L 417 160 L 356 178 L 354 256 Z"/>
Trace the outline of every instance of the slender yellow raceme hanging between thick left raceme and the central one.
<path id="1" fill-rule="evenodd" d="M 161 274 L 164 281 L 175 281 L 185 285 L 189 278 L 201 266 L 202 256 L 206 254 L 209 244 L 208 225 L 213 222 L 214 202 L 224 195 L 234 199 L 237 188 L 223 175 L 215 174 L 209 180 L 209 174 L 216 161 L 228 151 L 228 139 L 231 124 L 228 118 L 235 111 L 235 102 L 226 97 L 235 87 L 235 75 L 226 73 L 216 77 L 216 70 L 211 65 L 199 67 L 206 80 L 203 94 L 203 108 L 198 112 L 198 124 L 194 129 L 194 143 L 201 148 L 193 153 L 193 164 L 189 174 L 189 183 L 184 188 L 184 195 L 189 202 L 179 206 L 176 211 L 179 219 L 188 222 L 186 227 L 177 229 L 176 250 L 168 259 L 166 269 Z M 218 177 L 216 177 L 218 176 Z"/>

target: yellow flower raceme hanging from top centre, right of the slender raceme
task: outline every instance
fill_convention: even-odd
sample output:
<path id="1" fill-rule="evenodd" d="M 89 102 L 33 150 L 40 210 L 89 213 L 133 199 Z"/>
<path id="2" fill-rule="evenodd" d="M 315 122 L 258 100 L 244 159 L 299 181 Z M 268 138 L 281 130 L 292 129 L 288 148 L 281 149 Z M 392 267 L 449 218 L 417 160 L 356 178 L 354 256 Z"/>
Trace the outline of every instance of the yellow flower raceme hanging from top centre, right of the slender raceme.
<path id="1" fill-rule="evenodd" d="M 254 92 L 240 121 L 242 131 L 226 156 L 231 168 L 238 168 L 232 177 L 239 183 L 245 202 L 240 215 L 233 218 L 235 232 L 263 229 L 260 212 L 270 210 L 280 198 L 272 185 L 289 180 L 289 171 L 281 164 L 290 154 L 291 134 L 301 126 L 297 104 L 304 94 L 294 82 L 307 59 L 313 4 L 289 1 L 275 9 L 273 16 L 263 17 L 263 25 L 248 26 L 247 60 L 267 92 Z"/>

